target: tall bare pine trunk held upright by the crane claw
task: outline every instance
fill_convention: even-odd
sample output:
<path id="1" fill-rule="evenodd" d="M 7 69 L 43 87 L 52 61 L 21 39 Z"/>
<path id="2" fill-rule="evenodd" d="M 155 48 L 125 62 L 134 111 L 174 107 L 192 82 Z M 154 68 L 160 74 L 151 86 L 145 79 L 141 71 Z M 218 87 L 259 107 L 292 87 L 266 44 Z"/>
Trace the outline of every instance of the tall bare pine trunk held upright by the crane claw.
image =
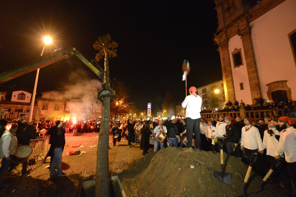
<path id="1" fill-rule="evenodd" d="M 105 75 L 104 83 L 109 81 L 108 55 L 105 52 Z M 108 88 L 108 87 L 107 87 Z M 98 138 L 98 147 L 96 153 L 96 197 L 110 196 L 109 185 L 109 119 L 110 119 L 110 97 L 103 98 L 101 129 Z"/>

